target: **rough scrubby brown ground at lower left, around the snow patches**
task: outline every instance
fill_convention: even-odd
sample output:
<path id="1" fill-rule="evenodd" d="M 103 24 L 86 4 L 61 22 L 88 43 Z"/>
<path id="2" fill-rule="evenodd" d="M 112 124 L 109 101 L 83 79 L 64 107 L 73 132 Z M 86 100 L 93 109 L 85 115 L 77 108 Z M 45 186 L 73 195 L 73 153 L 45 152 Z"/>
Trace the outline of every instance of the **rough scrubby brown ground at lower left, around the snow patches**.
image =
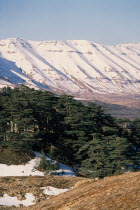
<path id="1" fill-rule="evenodd" d="M 80 177 L 59 176 L 28 176 L 28 177 L 0 177 L 0 197 L 3 194 L 17 196 L 19 200 L 25 199 L 26 193 L 33 193 L 36 203 L 47 199 L 49 196 L 43 194 L 41 187 L 53 186 L 60 189 L 70 189 L 77 182 L 85 180 Z M 0 209 L 15 209 L 14 207 L 3 207 Z"/>

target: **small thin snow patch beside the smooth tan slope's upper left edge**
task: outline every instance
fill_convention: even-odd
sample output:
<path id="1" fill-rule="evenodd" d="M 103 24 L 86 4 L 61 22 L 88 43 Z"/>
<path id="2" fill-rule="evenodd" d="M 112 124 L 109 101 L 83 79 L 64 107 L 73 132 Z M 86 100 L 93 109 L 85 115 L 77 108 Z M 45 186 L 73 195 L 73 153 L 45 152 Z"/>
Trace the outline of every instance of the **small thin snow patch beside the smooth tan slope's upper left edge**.
<path id="1" fill-rule="evenodd" d="M 55 187 L 41 187 L 41 189 L 44 189 L 43 193 L 45 195 L 59 195 L 60 193 L 67 192 L 69 189 L 58 189 Z"/>

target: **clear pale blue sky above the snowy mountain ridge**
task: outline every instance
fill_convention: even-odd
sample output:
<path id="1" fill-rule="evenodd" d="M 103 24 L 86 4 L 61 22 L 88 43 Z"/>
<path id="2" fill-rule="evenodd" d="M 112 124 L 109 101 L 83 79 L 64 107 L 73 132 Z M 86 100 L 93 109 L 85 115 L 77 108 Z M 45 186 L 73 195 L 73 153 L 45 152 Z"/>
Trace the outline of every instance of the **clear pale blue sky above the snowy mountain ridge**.
<path id="1" fill-rule="evenodd" d="M 0 39 L 140 42 L 140 0 L 0 0 Z"/>

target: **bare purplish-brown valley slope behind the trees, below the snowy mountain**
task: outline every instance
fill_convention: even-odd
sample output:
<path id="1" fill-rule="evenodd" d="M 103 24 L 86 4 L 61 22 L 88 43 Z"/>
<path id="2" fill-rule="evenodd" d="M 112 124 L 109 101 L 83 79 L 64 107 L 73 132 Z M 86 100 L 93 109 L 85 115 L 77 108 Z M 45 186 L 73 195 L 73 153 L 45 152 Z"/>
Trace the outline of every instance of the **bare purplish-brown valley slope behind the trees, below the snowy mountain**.
<path id="1" fill-rule="evenodd" d="M 88 104 L 90 101 L 104 107 L 105 113 L 111 114 L 118 119 L 134 120 L 140 117 L 140 95 L 94 95 L 94 99 L 77 100 Z M 97 100 L 98 99 L 98 100 Z"/>

